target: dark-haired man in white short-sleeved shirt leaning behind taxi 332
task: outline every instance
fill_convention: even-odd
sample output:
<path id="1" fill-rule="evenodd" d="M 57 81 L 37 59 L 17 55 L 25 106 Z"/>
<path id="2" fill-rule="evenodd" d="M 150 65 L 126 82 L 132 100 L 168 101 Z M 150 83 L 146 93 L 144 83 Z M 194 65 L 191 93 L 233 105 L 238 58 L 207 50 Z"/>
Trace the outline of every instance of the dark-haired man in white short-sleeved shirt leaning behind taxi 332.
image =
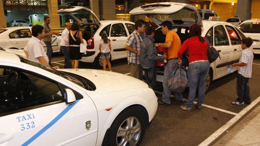
<path id="1" fill-rule="evenodd" d="M 44 37 L 43 26 L 35 25 L 32 27 L 32 38 L 28 41 L 25 46 L 24 52 L 27 58 L 32 61 L 42 63 L 49 66 L 49 58 L 43 50 L 43 43 L 41 40 Z M 59 69 L 58 66 L 54 66 L 54 69 Z"/>

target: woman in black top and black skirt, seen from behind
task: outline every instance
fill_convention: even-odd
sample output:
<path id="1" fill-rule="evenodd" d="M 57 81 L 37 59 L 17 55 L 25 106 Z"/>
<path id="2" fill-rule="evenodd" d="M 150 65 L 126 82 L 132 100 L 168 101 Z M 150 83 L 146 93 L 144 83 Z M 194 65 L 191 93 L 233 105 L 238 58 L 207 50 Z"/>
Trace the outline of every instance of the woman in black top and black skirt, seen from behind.
<path id="1" fill-rule="evenodd" d="M 79 59 L 82 58 L 80 43 L 83 43 L 82 33 L 79 31 L 79 24 L 74 22 L 69 32 L 69 59 L 72 60 L 72 68 L 79 68 Z"/>

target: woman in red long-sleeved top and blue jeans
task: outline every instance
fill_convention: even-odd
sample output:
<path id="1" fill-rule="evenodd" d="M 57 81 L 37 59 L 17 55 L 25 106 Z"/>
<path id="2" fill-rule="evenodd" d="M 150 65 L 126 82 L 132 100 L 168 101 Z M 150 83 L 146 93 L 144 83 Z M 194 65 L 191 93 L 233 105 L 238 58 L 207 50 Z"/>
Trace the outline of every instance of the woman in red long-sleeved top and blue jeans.
<path id="1" fill-rule="evenodd" d="M 183 52 L 187 50 L 189 55 L 189 98 L 186 106 L 181 109 L 191 111 L 193 101 L 195 99 L 196 90 L 198 89 L 198 101 L 195 105 L 198 109 L 202 109 L 202 103 L 205 96 L 205 81 L 209 73 L 209 59 L 207 56 L 207 40 L 201 36 L 201 26 L 193 24 L 189 28 L 190 38 L 181 45 L 178 51 L 178 58 L 181 58 Z M 181 59 L 179 59 L 181 64 Z"/>

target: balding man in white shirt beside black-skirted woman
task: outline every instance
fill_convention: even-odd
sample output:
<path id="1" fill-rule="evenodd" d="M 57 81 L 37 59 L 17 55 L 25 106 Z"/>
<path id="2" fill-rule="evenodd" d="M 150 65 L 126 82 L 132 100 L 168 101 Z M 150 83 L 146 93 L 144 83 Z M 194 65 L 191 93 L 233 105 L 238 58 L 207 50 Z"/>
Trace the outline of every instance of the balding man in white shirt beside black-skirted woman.
<path id="1" fill-rule="evenodd" d="M 71 60 L 69 59 L 69 30 L 71 24 L 69 22 L 65 23 L 65 29 L 61 33 L 61 51 L 65 56 L 65 65 L 64 68 L 72 68 Z"/>

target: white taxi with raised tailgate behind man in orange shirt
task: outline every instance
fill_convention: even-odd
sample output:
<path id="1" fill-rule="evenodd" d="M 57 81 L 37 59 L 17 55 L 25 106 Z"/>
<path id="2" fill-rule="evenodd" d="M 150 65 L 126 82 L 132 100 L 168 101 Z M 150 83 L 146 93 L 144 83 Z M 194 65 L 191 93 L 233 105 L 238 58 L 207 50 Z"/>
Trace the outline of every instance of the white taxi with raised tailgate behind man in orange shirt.
<path id="1" fill-rule="evenodd" d="M 221 56 L 221 59 L 218 58 L 210 64 L 209 75 L 205 83 L 206 91 L 213 80 L 229 74 L 226 65 L 239 61 L 242 51 L 241 39 L 245 37 L 243 32 L 227 22 L 202 20 L 198 10 L 192 5 L 172 2 L 153 3 L 136 7 L 129 13 L 132 15 L 144 14 L 157 26 L 163 22 L 162 19 L 158 19 L 160 15 L 167 15 L 167 20 L 172 21 L 173 30 L 180 37 L 181 43 L 190 37 L 190 25 L 198 23 L 203 27 L 202 36 L 209 40 Z M 161 27 L 156 29 L 154 38 L 157 43 L 165 42 L 165 35 L 162 34 Z M 235 71 L 237 69 L 234 68 Z M 157 67 L 157 81 L 163 82 L 163 73 L 164 67 Z"/>

